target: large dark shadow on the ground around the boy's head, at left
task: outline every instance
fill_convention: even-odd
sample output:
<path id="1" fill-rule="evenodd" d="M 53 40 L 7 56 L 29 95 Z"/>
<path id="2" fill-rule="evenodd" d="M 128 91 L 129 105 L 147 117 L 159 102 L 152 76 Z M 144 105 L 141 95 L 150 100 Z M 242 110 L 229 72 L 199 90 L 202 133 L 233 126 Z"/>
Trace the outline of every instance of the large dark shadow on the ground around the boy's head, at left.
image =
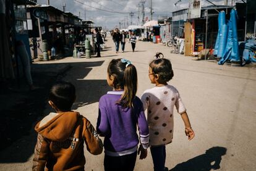
<path id="1" fill-rule="evenodd" d="M 85 96 L 80 94 L 73 108 L 98 102 L 100 96 L 108 91 L 106 80 L 80 79 L 85 78 L 92 67 L 100 66 L 103 62 L 33 64 L 33 81 L 36 86 L 41 87 L 33 92 L 27 90 L 25 78 L 22 78 L 22 86 L 17 91 L 2 89 L 0 85 L 0 163 L 26 162 L 33 154 L 37 136 L 34 127 L 47 115 L 44 111 L 48 105 L 49 87 L 56 81 L 62 80 L 70 67 L 72 69 L 69 72 L 75 71 L 72 83 L 83 86 L 85 88 L 83 92 L 87 94 Z"/>

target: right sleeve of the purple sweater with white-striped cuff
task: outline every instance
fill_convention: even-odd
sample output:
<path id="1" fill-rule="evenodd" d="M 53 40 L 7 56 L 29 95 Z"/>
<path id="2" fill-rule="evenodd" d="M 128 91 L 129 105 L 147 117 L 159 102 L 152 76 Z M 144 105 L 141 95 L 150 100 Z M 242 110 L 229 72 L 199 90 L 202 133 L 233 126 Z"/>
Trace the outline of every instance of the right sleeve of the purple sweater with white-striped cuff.
<path id="1" fill-rule="evenodd" d="M 140 143 L 144 149 L 148 148 L 149 141 L 149 131 L 148 131 L 148 122 L 144 114 L 143 104 L 140 107 L 140 114 L 138 117 L 138 127 L 140 133 Z"/>

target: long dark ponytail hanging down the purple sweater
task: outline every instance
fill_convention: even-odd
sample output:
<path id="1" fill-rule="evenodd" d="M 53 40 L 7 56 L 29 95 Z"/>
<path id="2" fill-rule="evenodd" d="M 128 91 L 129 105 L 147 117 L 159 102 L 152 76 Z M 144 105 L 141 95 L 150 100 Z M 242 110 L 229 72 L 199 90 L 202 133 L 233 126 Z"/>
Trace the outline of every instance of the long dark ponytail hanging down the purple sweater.
<path id="1" fill-rule="evenodd" d="M 137 93 L 137 70 L 134 65 L 127 65 L 124 70 L 124 93 L 121 96 L 120 102 L 124 107 L 134 107 L 132 101 Z"/>

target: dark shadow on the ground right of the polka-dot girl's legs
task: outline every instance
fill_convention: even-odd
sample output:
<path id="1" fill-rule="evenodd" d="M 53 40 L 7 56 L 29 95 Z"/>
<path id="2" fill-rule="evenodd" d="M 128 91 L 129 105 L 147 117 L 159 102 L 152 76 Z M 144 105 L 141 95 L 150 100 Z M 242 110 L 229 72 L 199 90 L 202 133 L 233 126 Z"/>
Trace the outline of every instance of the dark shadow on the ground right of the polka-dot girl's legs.
<path id="1" fill-rule="evenodd" d="M 181 164 L 177 164 L 169 171 L 210 171 L 211 169 L 220 169 L 221 156 L 224 156 L 226 151 L 226 148 L 218 146 L 207 149 L 205 154 L 194 157 Z"/>

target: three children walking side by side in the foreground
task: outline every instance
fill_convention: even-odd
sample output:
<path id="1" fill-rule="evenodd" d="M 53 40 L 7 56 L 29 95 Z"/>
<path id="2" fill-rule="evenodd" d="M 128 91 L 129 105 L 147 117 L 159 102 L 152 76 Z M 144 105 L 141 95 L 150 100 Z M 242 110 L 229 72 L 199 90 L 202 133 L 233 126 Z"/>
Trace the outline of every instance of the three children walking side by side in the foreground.
<path id="1" fill-rule="evenodd" d="M 71 111 L 76 97 L 75 86 L 67 82 L 53 85 L 48 102 L 55 112 L 35 127 L 38 140 L 33 170 L 45 170 L 45 167 L 48 170 L 84 170 L 84 142 L 87 150 L 95 155 L 100 154 L 104 146 L 107 171 L 134 170 L 137 153 L 140 159 L 145 159 L 148 147 L 154 170 L 168 170 L 164 167 L 165 146 L 173 140 L 174 106 L 181 115 L 189 140 L 194 138 L 194 131 L 179 91 L 168 85 L 174 76 L 171 62 L 156 57 L 148 70 L 149 80 L 155 87 L 145 90 L 141 98 L 136 96 L 135 65 L 127 59 L 111 60 L 106 80 L 113 91 L 100 98 L 96 130 L 83 115 Z M 105 137 L 104 144 L 100 136 Z"/>

